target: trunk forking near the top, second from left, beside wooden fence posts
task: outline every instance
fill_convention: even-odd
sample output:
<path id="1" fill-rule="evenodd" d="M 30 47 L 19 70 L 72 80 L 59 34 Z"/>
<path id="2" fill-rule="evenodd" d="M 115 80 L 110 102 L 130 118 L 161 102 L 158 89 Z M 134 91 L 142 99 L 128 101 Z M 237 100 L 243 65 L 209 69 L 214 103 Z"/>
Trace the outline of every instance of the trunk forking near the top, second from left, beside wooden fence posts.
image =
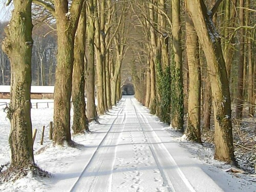
<path id="1" fill-rule="evenodd" d="M 53 140 L 57 144 L 71 141 L 70 99 L 72 90 L 72 70 L 74 62 L 74 38 L 82 9 L 83 0 L 55 0 L 57 26 L 57 67 L 54 86 L 54 130 Z"/>

